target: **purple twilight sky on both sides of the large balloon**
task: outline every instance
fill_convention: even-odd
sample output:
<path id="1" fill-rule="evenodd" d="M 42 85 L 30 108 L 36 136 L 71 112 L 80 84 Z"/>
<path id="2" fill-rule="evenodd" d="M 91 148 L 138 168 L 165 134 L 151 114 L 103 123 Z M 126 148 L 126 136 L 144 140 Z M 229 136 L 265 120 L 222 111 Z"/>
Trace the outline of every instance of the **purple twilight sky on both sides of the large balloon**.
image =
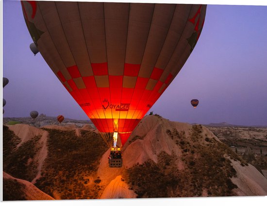
<path id="1" fill-rule="evenodd" d="M 150 111 L 181 122 L 267 125 L 267 6 L 208 5 L 200 39 Z M 3 0 L 3 117 L 89 120 L 40 53 L 29 49 L 20 1 Z M 191 99 L 199 99 L 196 109 Z"/>

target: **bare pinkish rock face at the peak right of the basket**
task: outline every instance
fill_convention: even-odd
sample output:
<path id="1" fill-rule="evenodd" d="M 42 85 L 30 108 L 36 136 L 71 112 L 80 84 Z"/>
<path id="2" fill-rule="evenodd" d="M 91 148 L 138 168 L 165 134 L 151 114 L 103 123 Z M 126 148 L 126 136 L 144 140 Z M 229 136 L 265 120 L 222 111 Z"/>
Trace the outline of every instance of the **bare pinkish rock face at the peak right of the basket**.
<path id="1" fill-rule="evenodd" d="M 184 136 L 188 137 L 190 135 L 192 125 L 188 123 L 169 121 L 156 116 L 144 117 L 130 137 L 130 140 L 136 136 L 143 137 L 143 139 L 137 139 L 131 144 L 129 144 L 129 141 L 126 142 L 123 153 L 123 165 L 130 168 L 137 162 L 142 164 L 148 159 L 157 163 L 157 155 L 162 151 L 169 155 L 174 152 L 174 154 L 180 156 L 182 151 L 174 143 L 174 141 L 168 137 L 166 133 L 168 129 L 176 129 L 180 133 L 184 132 Z M 208 137 L 215 138 L 219 141 L 219 139 L 205 127 L 203 127 L 203 137 L 204 134 L 207 134 Z M 204 138 L 202 142 L 204 142 Z"/>

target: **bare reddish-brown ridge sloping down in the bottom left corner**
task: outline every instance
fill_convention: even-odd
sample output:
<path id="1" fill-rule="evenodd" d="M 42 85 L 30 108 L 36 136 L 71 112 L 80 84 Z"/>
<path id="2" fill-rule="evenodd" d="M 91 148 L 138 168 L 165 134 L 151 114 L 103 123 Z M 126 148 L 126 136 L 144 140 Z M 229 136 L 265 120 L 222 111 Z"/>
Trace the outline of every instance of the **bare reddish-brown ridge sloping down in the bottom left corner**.
<path id="1" fill-rule="evenodd" d="M 26 200 L 54 200 L 54 198 L 42 192 L 40 189 L 36 188 L 32 183 L 26 180 L 17 179 L 7 174 L 6 172 L 3 172 L 3 180 L 5 179 L 17 180 L 19 183 L 25 185 L 25 189 L 23 190 L 23 192 Z"/>

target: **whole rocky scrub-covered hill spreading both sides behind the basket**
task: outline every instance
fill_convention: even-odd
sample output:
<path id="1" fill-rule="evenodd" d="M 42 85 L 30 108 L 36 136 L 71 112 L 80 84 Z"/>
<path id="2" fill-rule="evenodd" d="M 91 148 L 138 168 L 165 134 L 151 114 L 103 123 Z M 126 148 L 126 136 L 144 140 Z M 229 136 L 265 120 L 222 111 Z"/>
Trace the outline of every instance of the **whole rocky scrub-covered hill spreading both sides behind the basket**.
<path id="1" fill-rule="evenodd" d="M 89 125 L 3 125 L 3 171 L 54 199 L 267 195 L 263 174 L 202 125 L 146 116 L 123 167 L 108 155 Z"/>

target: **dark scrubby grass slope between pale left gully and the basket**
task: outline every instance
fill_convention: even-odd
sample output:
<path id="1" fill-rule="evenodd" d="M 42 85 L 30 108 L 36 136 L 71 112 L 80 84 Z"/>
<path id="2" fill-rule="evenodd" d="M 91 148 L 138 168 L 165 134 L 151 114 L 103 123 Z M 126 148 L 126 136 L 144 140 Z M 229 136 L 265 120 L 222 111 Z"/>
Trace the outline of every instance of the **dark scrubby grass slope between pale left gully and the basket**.
<path id="1" fill-rule="evenodd" d="M 42 169 L 42 177 L 36 187 L 52 197 L 54 193 L 61 199 L 99 198 L 100 179 L 89 181 L 100 163 L 100 157 L 106 151 L 102 138 L 90 131 L 81 131 L 81 137 L 75 131 L 46 129 L 49 132 L 48 157 Z"/>

